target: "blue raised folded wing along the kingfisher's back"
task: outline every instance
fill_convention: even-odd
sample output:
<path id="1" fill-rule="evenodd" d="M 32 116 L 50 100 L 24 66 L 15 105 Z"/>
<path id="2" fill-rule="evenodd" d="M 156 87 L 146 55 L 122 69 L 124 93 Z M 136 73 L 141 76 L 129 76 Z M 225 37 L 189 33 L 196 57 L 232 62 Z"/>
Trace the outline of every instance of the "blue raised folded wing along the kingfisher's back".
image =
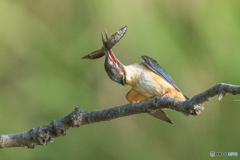
<path id="1" fill-rule="evenodd" d="M 181 92 L 174 80 L 169 76 L 169 74 L 157 63 L 157 61 L 153 60 L 148 56 L 142 56 L 142 60 L 144 61 L 144 65 L 152 70 L 157 75 L 161 76 L 168 83 L 170 83 L 177 91 Z"/>

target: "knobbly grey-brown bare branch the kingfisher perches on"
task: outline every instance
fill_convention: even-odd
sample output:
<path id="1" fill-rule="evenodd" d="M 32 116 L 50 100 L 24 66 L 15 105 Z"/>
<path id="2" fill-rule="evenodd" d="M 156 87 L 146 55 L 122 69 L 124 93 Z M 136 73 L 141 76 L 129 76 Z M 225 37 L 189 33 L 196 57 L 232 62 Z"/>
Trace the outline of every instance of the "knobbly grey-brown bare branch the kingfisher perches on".
<path id="1" fill-rule="evenodd" d="M 33 128 L 28 132 L 0 135 L 0 148 L 24 147 L 35 148 L 37 145 L 47 145 L 57 137 L 66 136 L 70 127 L 80 127 L 95 122 L 109 121 L 115 118 L 134 114 L 149 113 L 160 108 L 169 108 L 187 115 L 199 115 L 204 110 L 203 103 L 219 95 L 221 100 L 227 93 L 240 94 L 240 86 L 219 83 L 216 86 L 195 95 L 188 101 L 172 97 L 155 97 L 149 101 L 126 104 L 101 111 L 86 112 L 78 106 L 74 111 L 58 120 L 53 120 L 48 126 Z"/>

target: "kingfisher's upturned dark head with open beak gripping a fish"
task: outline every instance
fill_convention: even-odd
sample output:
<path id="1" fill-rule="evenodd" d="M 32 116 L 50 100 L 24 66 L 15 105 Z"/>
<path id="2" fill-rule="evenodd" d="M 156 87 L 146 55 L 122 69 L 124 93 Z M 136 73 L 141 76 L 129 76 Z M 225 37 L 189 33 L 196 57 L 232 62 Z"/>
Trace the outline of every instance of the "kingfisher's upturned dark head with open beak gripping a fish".
<path id="1" fill-rule="evenodd" d="M 106 38 L 108 39 L 107 33 L 106 33 Z M 104 40 L 103 33 L 102 33 L 102 41 L 103 41 L 103 46 L 104 46 L 105 56 L 106 56 L 104 67 L 109 78 L 119 84 L 125 85 L 126 73 L 125 73 L 124 65 L 115 57 L 112 49 L 108 50 L 106 42 Z"/>

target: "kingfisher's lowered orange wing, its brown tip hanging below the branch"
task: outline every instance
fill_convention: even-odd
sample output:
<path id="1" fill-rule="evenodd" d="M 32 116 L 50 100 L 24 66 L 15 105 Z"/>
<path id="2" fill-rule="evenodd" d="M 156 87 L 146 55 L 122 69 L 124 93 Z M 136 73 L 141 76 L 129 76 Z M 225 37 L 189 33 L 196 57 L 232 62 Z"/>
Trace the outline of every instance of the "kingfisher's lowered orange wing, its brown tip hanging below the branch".
<path id="1" fill-rule="evenodd" d="M 135 89 L 131 89 L 127 95 L 126 98 L 128 102 L 133 102 L 133 101 L 145 101 L 148 100 L 149 98 L 144 96 L 142 93 L 136 91 Z M 153 112 L 149 113 L 151 116 L 158 118 L 160 120 L 163 120 L 165 122 L 173 124 L 171 119 L 167 116 L 166 112 L 162 109 L 154 110 Z"/>

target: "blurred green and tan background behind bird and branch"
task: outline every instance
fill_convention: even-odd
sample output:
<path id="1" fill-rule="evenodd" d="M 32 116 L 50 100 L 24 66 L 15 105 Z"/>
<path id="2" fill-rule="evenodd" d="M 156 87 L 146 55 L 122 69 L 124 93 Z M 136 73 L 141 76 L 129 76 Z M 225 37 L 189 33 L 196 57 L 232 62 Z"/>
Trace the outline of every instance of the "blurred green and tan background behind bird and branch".
<path id="1" fill-rule="evenodd" d="M 128 25 L 113 48 L 125 65 L 157 60 L 189 97 L 217 83 L 240 84 L 237 0 L 1 0 L 0 134 L 48 125 L 79 105 L 85 111 L 126 104 L 104 58 L 81 57 Z M 174 125 L 147 114 L 70 129 L 35 149 L 0 150 L 12 159 L 206 159 L 240 153 L 240 96 L 205 103 L 199 116 L 168 110 Z"/>

